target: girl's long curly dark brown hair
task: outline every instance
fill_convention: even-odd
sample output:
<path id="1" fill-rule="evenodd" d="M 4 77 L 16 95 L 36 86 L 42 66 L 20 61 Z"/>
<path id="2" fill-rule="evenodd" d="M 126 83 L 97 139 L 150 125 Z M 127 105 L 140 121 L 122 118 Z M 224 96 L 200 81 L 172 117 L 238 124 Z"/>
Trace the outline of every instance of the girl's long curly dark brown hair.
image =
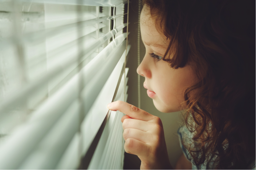
<path id="1" fill-rule="evenodd" d="M 157 30 L 170 40 L 170 67 L 191 65 L 184 120 L 196 165 L 215 154 L 216 169 L 244 169 L 256 156 L 255 1 L 143 0 Z M 193 94 L 193 95 L 192 95 Z M 191 120 L 191 121 L 190 121 Z"/>

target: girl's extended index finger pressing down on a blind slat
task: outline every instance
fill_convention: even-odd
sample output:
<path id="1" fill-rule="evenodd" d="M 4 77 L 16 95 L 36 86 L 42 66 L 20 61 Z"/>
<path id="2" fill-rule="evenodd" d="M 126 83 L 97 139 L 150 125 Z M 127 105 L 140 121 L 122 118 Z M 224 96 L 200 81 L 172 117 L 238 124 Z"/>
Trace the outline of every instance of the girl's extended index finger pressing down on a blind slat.
<path id="1" fill-rule="evenodd" d="M 149 114 L 148 112 L 143 111 L 138 107 L 124 101 L 114 101 L 112 103 L 109 103 L 107 107 L 109 110 L 120 111 L 133 119 L 149 121 L 154 118 L 152 114 Z"/>

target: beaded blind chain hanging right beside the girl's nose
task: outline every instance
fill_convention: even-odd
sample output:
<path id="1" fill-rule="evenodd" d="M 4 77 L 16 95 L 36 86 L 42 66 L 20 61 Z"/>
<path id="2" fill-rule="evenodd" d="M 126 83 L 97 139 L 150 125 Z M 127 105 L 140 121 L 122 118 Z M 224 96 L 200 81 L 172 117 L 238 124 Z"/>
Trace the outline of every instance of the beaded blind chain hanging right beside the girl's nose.
<path id="1" fill-rule="evenodd" d="M 139 0 L 139 10 L 138 10 L 138 67 L 140 65 L 140 0 Z M 140 75 L 138 74 L 138 107 L 140 108 Z"/>

